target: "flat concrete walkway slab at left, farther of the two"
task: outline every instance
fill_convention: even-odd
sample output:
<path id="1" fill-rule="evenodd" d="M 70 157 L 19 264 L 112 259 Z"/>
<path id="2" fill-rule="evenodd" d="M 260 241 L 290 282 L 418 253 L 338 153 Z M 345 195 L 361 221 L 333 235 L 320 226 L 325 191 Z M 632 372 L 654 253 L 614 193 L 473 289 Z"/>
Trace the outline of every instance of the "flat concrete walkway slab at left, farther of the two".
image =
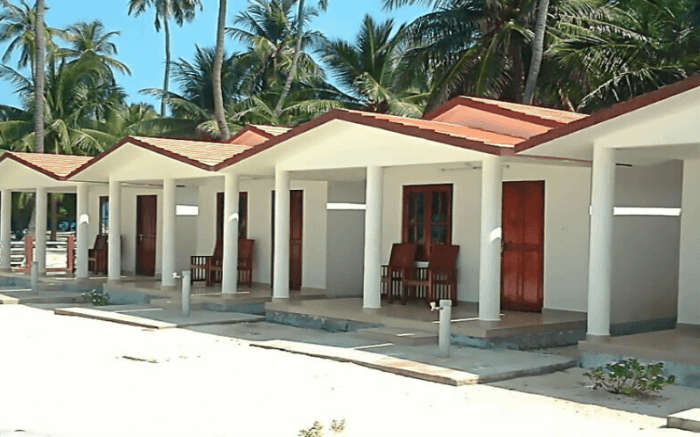
<path id="1" fill-rule="evenodd" d="M 251 314 L 205 310 L 194 310 L 188 317 L 183 316 L 179 309 L 150 305 L 56 308 L 54 313 L 61 316 L 84 317 L 150 329 L 256 322 L 264 319 L 262 316 Z"/>

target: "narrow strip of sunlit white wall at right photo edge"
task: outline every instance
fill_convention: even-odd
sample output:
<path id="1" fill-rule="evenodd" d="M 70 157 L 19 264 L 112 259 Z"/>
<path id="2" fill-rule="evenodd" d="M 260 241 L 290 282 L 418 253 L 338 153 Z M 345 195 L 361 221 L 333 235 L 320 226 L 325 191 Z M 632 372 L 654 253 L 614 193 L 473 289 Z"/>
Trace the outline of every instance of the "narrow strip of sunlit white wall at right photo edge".
<path id="1" fill-rule="evenodd" d="M 700 160 L 684 161 L 678 323 L 700 325 Z"/>

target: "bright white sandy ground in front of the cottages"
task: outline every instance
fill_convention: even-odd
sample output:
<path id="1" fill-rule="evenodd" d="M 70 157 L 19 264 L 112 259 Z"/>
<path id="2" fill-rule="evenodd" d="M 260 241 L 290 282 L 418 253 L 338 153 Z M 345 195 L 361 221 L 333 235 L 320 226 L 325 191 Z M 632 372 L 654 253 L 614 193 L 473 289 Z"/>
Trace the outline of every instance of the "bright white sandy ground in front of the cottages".
<path id="1" fill-rule="evenodd" d="M 663 429 L 659 417 L 556 397 L 450 387 L 20 305 L 0 306 L 0 334 L 0 435 L 293 437 L 334 418 L 346 420 L 344 435 L 362 437 L 694 435 Z"/>

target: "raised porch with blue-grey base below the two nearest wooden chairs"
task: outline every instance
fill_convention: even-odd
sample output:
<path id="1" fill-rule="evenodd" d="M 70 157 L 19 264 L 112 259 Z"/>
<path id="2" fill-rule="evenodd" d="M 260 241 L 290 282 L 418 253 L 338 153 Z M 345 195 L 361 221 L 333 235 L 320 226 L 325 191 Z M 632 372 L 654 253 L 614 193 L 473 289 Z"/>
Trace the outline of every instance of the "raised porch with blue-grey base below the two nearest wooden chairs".
<path id="1" fill-rule="evenodd" d="M 268 321 L 329 330 L 405 329 L 398 336 L 437 335 L 438 313 L 425 302 L 363 308 L 362 298 L 275 300 L 265 304 Z M 478 304 L 452 308 L 452 343 L 472 347 L 538 349 L 576 344 L 585 337 L 586 314 L 544 309 L 542 312 L 501 311 L 499 321 L 479 319 Z M 377 338 L 381 340 L 381 338 Z M 393 341 L 389 337 L 387 342 Z"/>

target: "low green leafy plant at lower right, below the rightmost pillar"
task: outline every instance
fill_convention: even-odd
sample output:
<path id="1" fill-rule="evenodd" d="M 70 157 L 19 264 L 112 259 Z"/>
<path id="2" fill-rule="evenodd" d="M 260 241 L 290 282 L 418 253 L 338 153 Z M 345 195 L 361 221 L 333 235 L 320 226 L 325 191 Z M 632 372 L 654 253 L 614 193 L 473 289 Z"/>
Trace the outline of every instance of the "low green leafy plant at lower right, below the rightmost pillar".
<path id="1" fill-rule="evenodd" d="M 583 375 L 593 383 L 593 390 L 628 396 L 658 393 L 676 381 L 673 375 L 664 376 L 664 363 L 641 364 L 634 358 L 608 363 Z"/>

